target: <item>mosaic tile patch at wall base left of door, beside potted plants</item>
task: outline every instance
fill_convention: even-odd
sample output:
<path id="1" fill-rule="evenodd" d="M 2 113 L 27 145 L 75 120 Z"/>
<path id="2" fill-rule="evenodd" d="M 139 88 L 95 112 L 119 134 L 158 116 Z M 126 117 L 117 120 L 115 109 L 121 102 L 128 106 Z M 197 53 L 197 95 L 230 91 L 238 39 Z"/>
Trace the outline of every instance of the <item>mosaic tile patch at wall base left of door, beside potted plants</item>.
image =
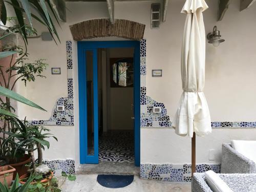
<path id="1" fill-rule="evenodd" d="M 75 160 L 73 159 L 44 160 L 42 163 L 48 165 L 54 173 L 63 171 L 66 174 L 75 174 Z"/>

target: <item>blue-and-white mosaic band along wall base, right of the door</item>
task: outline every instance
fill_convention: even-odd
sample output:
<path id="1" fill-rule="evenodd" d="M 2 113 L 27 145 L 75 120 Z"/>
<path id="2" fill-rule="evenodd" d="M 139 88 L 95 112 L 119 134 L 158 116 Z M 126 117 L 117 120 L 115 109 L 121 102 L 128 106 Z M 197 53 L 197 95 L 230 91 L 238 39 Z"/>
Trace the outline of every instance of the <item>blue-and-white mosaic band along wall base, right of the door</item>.
<path id="1" fill-rule="evenodd" d="M 213 170 L 220 173 L 221 164 L 198 164 L 197 173 Z M 191 164 L 140 164 L 140 178 L 171 182 L 190 182 Z"/>

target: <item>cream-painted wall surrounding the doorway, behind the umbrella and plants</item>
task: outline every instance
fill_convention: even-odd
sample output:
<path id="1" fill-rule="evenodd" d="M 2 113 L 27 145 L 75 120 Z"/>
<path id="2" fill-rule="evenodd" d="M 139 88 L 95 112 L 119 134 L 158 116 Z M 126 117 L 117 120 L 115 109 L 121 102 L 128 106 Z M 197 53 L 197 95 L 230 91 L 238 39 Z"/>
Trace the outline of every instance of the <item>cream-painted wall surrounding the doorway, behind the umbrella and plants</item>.
<path id="1" fill-rule="evenodd" d="M 134 20 L 146 25 L 144 37 L 147 39 L 147 95 L 165 103 L 171 118 L 176 112 L 182 93 L 180 55 L 185 15 L 182 15 L 180 10 L 184 2 L 184 0 L 169 1 L 166 22 L 161 24 L 160 29 L 157 30 L 150 29 L 152 2 L 115 3 L 116 18 Z M 209 6 L 209 9 L 204 12 L 206 33 L 211 32 L 214 25 L 217 25 L 226 40 L 218 48 L 206 45 L 205 95 L 212 121 L 255 121 L 256 38 L 254 33 L 256 25 L 254 24 L 256 22 L 256 4 L 248 10 L 239 12 L 240 1 L 233 0 L 222 22 L 217 23 L 218 1 L 207 0 L 206 2 Z M 46 72 L 47 79 L 29 83 L 27 89 L 24 89 L 22 84 L 19 87 L 19 93 L 44 106 L 48 113 L 20 106 L 19 115 L 21 117 L 27 115 L 29 119 L 45 119 L 50 116 L 55 100 L 60 96 L 67 95 L 65 41 L 72 39 L 69 25 L 87 19 L 108 17 L 105 3 L 67 3 L 67 8 L 71 10 L 71 12 L 67 12 L 67 23 L 61 23 L 61 29 L 58 29 L 61 45 L 56 46 L 53 41 L 44 42 L 40 39 L 29 41 L 31 58 L 47 58 L 50 67 L 61 67 L 62 74 L 52 76 L 49 68 Z M 46 31 L 41 26 L 37 29 Z M 116 38 L 94 40 L 99 39 Z M 73 43 L 73 48 L 73 62 L 76 64 L 76 42 Z M 163 77 L 151 77 L 153 69 L 162 69 Z M 56 146 L 59 146 L 60 149 L 63 148 L 67 153 L 72 151 L 71 155 L 67 156 L 74 158 L 78 163 L 79 121 L 76 65 L 74 65 L 74 91 L 75 126 L 53 126 L 50 129 L 60 138 Z M 197 139 L 197 162 L 209 162 L 209 149 L 216 150 L 216 160 L 211 163 L 220 162 L 222 142 L 228 142 L 234 138 L 255 139 L 255 136 L 256 129 L 214 129 L 211 135 Z M 52 147 L 50 151 L 45 152 L 45 156 L 50 159 L 63 158 L 62 153 L 63 151 Z M 64 156 L 66 157 L 66 155 Z M 190 162 L 190 139 L 178 137 L 172 129 L 141 129 L 141 162 Z"/>

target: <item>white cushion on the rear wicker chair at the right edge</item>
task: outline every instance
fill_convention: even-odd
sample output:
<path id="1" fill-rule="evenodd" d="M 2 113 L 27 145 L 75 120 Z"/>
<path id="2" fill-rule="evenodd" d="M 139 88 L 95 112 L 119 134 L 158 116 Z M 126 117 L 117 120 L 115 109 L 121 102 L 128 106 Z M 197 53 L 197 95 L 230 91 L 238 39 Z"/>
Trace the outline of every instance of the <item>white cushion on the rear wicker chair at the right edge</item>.
<path id="1" fill-rule="evenodd" d="M 256 163 L 256 141 L 231 140 L 231 146 L 234 150 Z"/>

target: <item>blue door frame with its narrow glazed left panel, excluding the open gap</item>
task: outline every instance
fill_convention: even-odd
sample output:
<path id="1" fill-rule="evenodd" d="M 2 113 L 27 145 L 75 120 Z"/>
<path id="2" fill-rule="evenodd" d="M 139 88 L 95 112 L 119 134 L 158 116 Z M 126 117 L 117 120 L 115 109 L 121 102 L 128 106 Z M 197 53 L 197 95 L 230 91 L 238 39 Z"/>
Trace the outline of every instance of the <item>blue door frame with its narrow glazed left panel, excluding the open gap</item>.
<path id="1" fill-rule="evenodd" d="M 140 42 L 139 41 L 79 41 L 78 84 L 79 84 L 79 134 L 80 164 L 98 163 L 98 93 L 97 93 L 97 49 L 134 48 L 134 143 L 135 165 L 140 166 Z M 93 66 L 93 69 L 91 68 Z M 93 77 L 88 77 L 89 71 Z M 87 74 L 89 73 L 89 74 Z M 90 82 L 88 82 L 90 81 Z M 91 89 L 90 89 L 91 88 Z M 93 102 L 90 102 L 91 90 Z M 92 91 L 93 90 L 93 91 Z M 91 105 L 90 105 L 91 103 Z M 92 106 L 93 105 L 93 106 Z M 89 114 L 90 109 L 93 115 Z M 93 116 L 93 120 L 88 116 Z M 91 120 L 91 121 L 89 121 Z M 92 127 L 93 122 L 93 133 Z M 93 141 L 92 141 L 93 138 Z M 92 145 L 93 143 L 93 145 Z"/>

